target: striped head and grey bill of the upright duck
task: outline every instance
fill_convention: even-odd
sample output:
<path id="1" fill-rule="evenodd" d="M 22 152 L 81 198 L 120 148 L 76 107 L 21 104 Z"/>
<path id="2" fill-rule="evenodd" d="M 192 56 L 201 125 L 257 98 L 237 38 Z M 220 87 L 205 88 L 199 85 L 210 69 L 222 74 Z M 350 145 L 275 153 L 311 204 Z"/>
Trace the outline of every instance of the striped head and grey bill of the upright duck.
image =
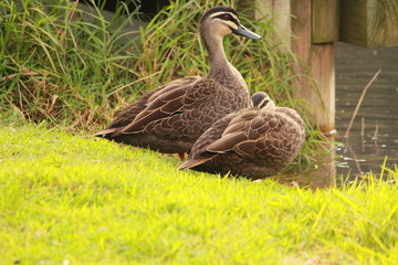
<path id="1" fill-rule="evenodd" d="M 233 33 L 249 39 L 261 39 L 260 35 L 245 29 L 239 21 L 238 13 L 230 7 L 216 7 L 205 12 L 200 21 L 200 35 L 221 38 Z"/>

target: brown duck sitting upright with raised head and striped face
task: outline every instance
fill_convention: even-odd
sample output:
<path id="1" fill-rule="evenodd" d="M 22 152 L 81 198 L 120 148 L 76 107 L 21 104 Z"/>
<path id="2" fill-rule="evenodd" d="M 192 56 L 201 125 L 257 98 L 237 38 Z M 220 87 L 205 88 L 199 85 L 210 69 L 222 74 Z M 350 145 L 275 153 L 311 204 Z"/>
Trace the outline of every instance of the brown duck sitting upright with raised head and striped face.
<path id="1" fill-rule="evenodd" d="M 231 7 L 206 11 L 199 32 L 210 59 L 206 76 L 182 77 L 143 94 L 94 136 L 181 158 L 216 120 L 249 107 L 248 86 L 228 62 L 223 38 L 230 33 L 261 36 L 244 28 Z"/>

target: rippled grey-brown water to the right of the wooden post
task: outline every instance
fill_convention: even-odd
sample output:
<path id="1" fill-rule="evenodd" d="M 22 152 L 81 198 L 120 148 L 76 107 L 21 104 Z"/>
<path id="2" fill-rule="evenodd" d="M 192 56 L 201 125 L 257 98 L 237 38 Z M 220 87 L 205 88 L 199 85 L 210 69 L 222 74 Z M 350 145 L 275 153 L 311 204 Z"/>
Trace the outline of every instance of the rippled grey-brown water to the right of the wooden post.
<path id="1" fill-rule="evenodd" d="M 337 173 L 379 172 L 398 165 L 398 46 L 378 50 L 336 44 Z M 349 138 L 344 136 L 365 85 L 381 68 L 366 93 Z M 364 136 L 362 136 L 364 119 Z"/>

